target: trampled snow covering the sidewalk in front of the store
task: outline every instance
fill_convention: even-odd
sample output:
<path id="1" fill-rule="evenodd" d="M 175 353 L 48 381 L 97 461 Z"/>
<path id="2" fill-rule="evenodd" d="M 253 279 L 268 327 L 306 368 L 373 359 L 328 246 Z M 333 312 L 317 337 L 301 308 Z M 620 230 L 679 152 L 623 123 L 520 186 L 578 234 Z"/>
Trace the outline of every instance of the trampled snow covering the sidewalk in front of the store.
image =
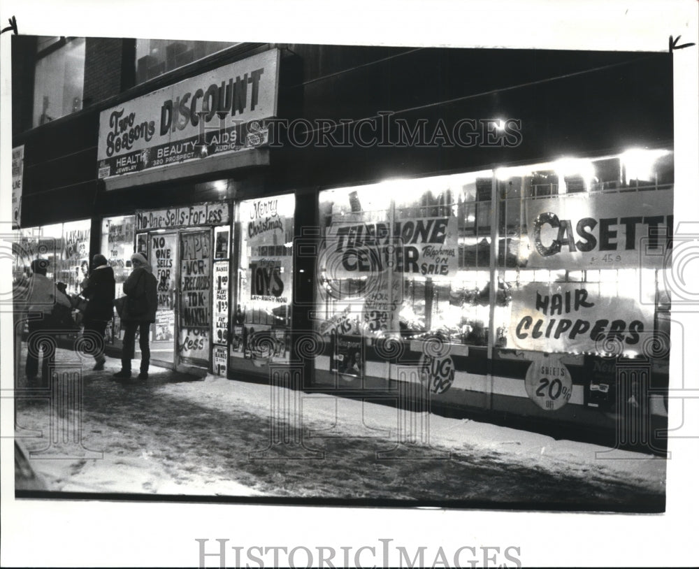
<path id="1" fill-rule="evenodd" d="M 657 456 L 210 375 L 182 380 L 161 368 L 120 384 L 111 378 L 118 368 L 108 359 L 104 372 L 83 373 L 82 446 L 92 453 L 57 436 L 48 448 L 57 458 L 32 457 L 48 489 L 610 510 L 665 494 Z M 48 401 L 17 401 L 17 424 L 44 433 L 21 439 L 29 451 L 47 447 L 52 424 L 75 421 L 60 410 L 59 422 L 50 417 Z"/>

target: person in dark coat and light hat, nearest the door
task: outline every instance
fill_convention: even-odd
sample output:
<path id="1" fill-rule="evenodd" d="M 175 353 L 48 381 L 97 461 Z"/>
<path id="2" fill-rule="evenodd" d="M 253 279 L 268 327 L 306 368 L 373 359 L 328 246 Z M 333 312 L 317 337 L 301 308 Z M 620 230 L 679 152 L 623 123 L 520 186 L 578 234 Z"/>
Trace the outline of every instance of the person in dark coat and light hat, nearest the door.
<path id="1" fill-rule="evenodd" d="M 158 283 L 153 275 L 152 266 L 142 254 L 131 255 L 131 266 L 134 271 L 124 282 L 127 300 L 121 315 L 124 330 L 122 369 L 115 373 L 114 377 L 117 380 L 128 380 L 131 377 L 131 359 L 134 358 L 138 330 L 141 352 L 138 379 L 147 380 L 150 366 L 150 325 L 155 322 L 155 312 L 158 310 Z"/>

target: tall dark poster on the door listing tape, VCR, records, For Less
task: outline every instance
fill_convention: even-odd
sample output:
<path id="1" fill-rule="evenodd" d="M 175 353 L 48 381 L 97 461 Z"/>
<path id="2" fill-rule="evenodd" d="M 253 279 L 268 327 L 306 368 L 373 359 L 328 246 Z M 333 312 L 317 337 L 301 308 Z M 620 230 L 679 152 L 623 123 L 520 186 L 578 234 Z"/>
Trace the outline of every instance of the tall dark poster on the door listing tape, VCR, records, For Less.
<path id="1" fill-rule="evenodd" d="M 180 360 L 208 363 L 211 252 L 208 231 L 180 233 Z"/>

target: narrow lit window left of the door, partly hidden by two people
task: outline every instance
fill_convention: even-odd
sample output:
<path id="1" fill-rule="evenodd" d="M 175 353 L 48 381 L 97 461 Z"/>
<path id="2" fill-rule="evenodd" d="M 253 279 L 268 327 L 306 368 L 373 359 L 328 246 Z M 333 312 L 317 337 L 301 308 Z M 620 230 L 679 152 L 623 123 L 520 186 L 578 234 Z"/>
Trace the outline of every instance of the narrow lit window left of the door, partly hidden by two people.
<path id="1" fill-rule="evenodd" d="M 105 217 L 102 220 L 100 252 L 114 270 L 116 296 L 124 296 L 124 281 L 131 274 L 131 255 L 134 254 L 134 215 Z M 106 341 L 120 344 L 121 322 L 116 312 L 107 327 Z"/>

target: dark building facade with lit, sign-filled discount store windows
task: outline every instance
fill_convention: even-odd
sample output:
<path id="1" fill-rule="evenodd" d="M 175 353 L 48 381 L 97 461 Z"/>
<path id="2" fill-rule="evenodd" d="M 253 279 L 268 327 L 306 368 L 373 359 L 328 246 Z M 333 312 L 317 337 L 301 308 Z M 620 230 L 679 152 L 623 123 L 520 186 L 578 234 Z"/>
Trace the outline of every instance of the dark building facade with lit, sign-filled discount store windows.
<path id="1" fill-rule="evenodd" d="M 78 293 L 142 252 L 154 363 L 655 449 L 671 84 L 663 54 L 18 36 L 17 274 Z"/>

